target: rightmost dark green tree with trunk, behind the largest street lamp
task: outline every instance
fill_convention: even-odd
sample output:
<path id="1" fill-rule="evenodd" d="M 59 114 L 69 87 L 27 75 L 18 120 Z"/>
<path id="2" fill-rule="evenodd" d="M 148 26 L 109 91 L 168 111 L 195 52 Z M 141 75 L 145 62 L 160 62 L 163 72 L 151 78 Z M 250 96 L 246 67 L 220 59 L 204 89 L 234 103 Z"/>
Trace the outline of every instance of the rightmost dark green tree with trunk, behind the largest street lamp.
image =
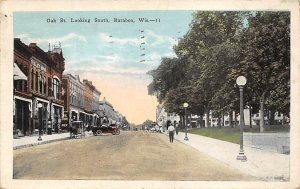
<path id="1" fill-rule="evenodd" d="M 244 59 L 240 69 L 248 78 L 247 87 L 259 98 L 260 131 L 264 131 L 265 102 L 274 91 L 289 91 L 290 15 L 288 12 L 257 12 L 249 19 L 242 43 Z M 283 86 L 278 86 L 278 84 Z M 272 92 L 273 91 L 273 92 Z M 289 93 L 284 93 L 288 99 Z M 277 96 L 279 100 L 279 96 Z"/>

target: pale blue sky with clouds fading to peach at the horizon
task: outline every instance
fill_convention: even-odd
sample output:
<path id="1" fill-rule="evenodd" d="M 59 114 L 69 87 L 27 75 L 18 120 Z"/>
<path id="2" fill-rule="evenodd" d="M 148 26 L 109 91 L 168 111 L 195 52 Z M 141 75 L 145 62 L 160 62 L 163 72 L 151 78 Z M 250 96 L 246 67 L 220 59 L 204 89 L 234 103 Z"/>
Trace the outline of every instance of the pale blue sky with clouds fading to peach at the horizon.
<path id="1" fill-rule="evenodd" d="M 155 121 L 157 101 L 149 96 L 147 71 L 188 31 L 193 11 L 15 12 L 14 37 L 44 51 L 62 45 L 65 73 L 93 82 L 130 123 Z M 95 22 L 108 20 L 109 22 Z M 134 22 L 114 22 L 114 18 Z M 154 20 L 140 22 L 139 18 Z M 88 22 L 71 22 L 72 20 Z M 52 22 L 47 22 L 52 21 Z M 55 20 L 55 22 L 54 22 Z M 60 22 L 64 20 L 65 22 Z"/>

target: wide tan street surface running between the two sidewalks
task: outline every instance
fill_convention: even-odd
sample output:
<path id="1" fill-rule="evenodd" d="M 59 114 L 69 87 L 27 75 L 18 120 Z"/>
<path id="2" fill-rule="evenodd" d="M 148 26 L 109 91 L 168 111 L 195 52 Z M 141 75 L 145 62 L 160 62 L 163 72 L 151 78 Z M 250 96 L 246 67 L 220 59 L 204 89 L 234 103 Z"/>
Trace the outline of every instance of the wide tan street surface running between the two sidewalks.
<path id="1" fill-rule="evenodd" d="M 14 150 L 16 179 L 256 180 L 163 134 L 72 139 Z"/>

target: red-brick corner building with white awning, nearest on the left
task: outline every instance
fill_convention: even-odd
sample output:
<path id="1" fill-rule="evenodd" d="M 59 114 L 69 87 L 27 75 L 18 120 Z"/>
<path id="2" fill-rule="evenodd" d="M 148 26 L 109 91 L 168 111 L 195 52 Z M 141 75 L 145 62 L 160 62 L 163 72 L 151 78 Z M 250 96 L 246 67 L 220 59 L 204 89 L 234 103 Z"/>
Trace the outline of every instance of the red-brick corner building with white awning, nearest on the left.
<path id="1" fill-rule="evenodd" d="M 14 77 L 14 129 L 24 135 L 41 130 L 59 132 L 63 118 L 62 73 L 64 58 L 60 46 L 43 51 L 14 39 L 14 65 L 26 79 Z M 17 67 L 16 67 L 17 66 Z"/>

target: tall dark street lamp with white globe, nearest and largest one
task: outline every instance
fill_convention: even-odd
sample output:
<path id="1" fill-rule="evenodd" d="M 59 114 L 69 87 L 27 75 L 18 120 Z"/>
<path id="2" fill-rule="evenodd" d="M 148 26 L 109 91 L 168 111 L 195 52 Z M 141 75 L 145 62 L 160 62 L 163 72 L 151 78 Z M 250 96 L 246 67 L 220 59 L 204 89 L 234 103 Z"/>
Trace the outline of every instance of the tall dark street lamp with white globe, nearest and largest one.
<path id="1" fill-rule="evenodd" d="M 247 83 L 247 79 L 244 76 L 239 76 L 236 79 L 236 84 L 240 89 L 240 152 L 236 157 L 237 160 L 247 161 L 247 157 L 244 153 L 244 145 L 243 145 L 243 132 L 244 132 L 244 102 L 243 102 L 243 89 Z"/>

